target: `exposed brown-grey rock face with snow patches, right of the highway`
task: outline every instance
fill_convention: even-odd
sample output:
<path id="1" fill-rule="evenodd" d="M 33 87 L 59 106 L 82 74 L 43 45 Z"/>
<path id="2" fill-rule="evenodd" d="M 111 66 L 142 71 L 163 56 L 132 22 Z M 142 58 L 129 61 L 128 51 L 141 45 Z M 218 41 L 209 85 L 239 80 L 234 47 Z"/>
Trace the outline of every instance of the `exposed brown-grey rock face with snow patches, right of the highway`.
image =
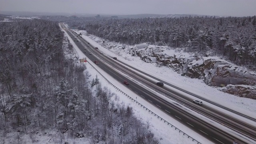
<path id="1" fill-rule="evenodd" d="M 168 56 L 159 47 L 133 48 L 130 54 L 139 56 L 145 62 L 168 66 L 182 76 L 203 79 L 209 86 L 225 87 L 222 88 L 223 92 L 256 99 L 256 72 L 249 72 L 217 57 L 186 57 L 182 53 Z"/>

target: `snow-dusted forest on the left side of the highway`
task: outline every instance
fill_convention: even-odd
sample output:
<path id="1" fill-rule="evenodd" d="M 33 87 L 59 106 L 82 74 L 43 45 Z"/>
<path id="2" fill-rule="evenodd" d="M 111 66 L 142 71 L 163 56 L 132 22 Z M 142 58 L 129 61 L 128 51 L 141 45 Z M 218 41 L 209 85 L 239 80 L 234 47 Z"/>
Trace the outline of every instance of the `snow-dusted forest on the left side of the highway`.
<path id="1" fill-rule="evenodd" d="M 65 57 L 65 49 L 74 50 L 58 23 L 21 20 L 0 27 L 1 136 L 18 131 L 34 143 L 36 132 L 56 128 L 70 137 L 83 133 L 91 143 L 158 144 L 131 107 L 111 102 L 115 94 L 97 78 L 88 81 L 78 58 Z M 11 143 L 23 142 L 18 136 Z"/>

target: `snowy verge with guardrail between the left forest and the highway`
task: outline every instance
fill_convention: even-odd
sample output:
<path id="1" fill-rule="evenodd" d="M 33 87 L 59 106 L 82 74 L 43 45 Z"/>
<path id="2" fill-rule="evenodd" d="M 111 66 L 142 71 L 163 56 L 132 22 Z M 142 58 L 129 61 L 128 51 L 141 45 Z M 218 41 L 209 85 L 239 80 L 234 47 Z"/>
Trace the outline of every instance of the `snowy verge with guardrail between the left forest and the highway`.
<path id="1" fill-rule="evenodd" d="M 96 42 L 88 39 L 88 37 L 86 37 L 86 36 L 82 36 L 82 37 L 85 38 L 86 40 L 88 40 L 88 42 L 90 42 L 90 44 L 92 44 L 93 46 L 99 46 L 99 45 L 96 45 L 97 44 Z M 78 52 L 78 57 L 84 58 L 85 57 L 84 53 L 82 51 L 80 51 L 79 48 L 77 48 L 77 46 L 75 45 L 75 43 L 72 41 L 71 38 L 70 38 L 70 42 L 74 46 L 76 51 Z M 100 48 L 100 47 L 98 47 L 98 48 L 105 54 L 108 53 L 108 50 L 106 50 L 104 48 Z M 159 110 L 152 104 L 150 104 L 147 101 L 145 101 L 144 99 L 140 98 L 140 96 L 138 96 L 133 91 L 130 91 L 130 89 L 128 89 L 125 85 L 120 84 L 120 82 L 116 81 L 114 78 L 112 78 L 112 76 L 110 76 L 109 74 L 104 72 L 104 70 L 101 70 L 100 68 L 98 68 L 98 66 L 96 64 L 94 64 L 92 62 L 92 60 L 88 60 L 88 62 L 90 62 L 90 64 L 92 64 L 92 66 L 97 68 L 97 70 L 100 71 L 100 73 L 103 76 L 105 76 L 112 84 L 117 86 L 119 89 L 121 89 L 123 92 L 128 94 L 133 99 L 140 102 L 140 104 L 144 105 L 146 108 L 150 109 L 152 112 L 158 114 L 160 117 L 162 117 L 167 122 L 173 124 L 180 130 L 185 132 L 186 134 L 190 135 L 192 138 L 201 142 L 202 144 L 212 144 L 212 142 L 210 142 L 206 138 L 198 135 L 196 132 L 194 132 L 190 128 L 184 126 L 183 124 L 181 124 L 174 118 L 171 118 L 166 113 L 162 112 L 162 110 Z M 136 104 L 136 102 L 133 102 L 128 97 L 124 96 L 124 94 L 122 94 L 121 92 L 116 90 L 116 88 L 112 87 L 106 80 L 104 80 L 104 78 L 99 76 L 99 74 L 90 66 L 90 64 L 86 64 L 86 66 L 87 66 L 87 70 L 90 72 L 90 74 L 92 74 L 92 77 L 95 78 L 95 76 L 97 74 L 98 78 L 100 78 L 100 82 L 101 82 L 102 86 L 108 87 L 111 90 L 111 92 L 114 92 L 119 96 L 119 98 L 117 99 L 119 104 L 123 103 L 125 105 L 132 106 L 134 113 L 136 114 L 136 116 L 138 118 L 140 118 L 142 120 L 142 122 L 144 122 L 145 124 L 147 122 L 150 122 L 150 126 L 152 129 L 151 131 L 155 134 L 155 136 L 157 138 L 161 139 L 160 140 L 161 144 L 196 144 L 195 141 L 192 142 L 191 138 L 188 138 L 187 136 L 184 136 L 182 133 L 179 133 L 179 131 L 175 130 L 174 127 L 167 125 L 167 123 L 164 123 L 164 121 L 161 121 L 160 118 L 155 117 L 154 115 L 151 114 L 151 112 L 146 111 L 146 109 L 143 109 L 141 106 Z"/>

